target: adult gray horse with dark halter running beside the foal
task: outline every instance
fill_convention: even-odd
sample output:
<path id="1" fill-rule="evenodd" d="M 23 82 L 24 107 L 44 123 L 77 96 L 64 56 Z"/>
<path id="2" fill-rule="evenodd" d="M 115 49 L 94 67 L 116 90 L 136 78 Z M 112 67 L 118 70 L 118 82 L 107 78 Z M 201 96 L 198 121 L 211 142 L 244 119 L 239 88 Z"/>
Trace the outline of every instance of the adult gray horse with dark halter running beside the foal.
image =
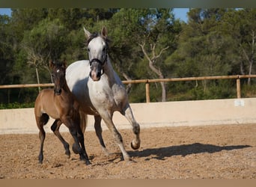
<path id="1" fill-rule="evenodd" d="M 112 120 L 114 111 L 121 112 L 132 125 L 135 138 L 131 142 L 131 147 L 134 150 L 140 147 L 140 126 L 133 117 L 127 91 L 109 61 L 107 30 L 103 27 L 100 34 L 91 34 L 85 28 L 84 30 L 89 60 L 76 61 L 67 67 L 67 85 L 76 96 L 85 115 L 94 115 L 94 128 L 103 151 L 109 154 L 102 138 L 102 119 L 112 132 L 124 160 L 130 161 L 132 159 L 124 148 L 122 136 Z M 85 129 L 86 123 L 81 123 L 81 126 Z"/>

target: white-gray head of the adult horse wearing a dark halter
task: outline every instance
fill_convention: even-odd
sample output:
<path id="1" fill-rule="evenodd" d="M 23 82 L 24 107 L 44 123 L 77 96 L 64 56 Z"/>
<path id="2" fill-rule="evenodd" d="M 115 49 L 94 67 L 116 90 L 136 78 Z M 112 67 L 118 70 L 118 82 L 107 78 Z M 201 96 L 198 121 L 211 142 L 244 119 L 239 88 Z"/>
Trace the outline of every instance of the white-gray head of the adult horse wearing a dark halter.
<path id="1" fill-rule="evenodd" d="M 90 61 L 90 77 L 94 81 L 99 81 L 104 73 L 104 65 L 108 58 L 107 30 L 102 28 L 100 34 L 91 34 L 84 28 L 87 37 L 88 55 Z"/>

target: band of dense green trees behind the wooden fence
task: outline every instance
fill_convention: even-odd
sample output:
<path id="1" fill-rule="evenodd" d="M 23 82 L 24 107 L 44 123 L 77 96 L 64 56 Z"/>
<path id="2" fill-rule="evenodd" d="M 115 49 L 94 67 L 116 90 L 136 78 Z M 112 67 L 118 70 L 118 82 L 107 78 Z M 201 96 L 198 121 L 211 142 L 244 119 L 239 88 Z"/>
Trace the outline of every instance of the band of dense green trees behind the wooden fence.
<path id="1" fill-rule="evenodd" d="M 255 74 L 256 9 L 192 8 L 187 23 L 171 8 L 14 8 L 0 16 L 0 84 L 51 82 L 50 59 L 67 64 L 87 57 L 83 26 L 108 29 L 109 56 L 121 79 L 157 79 L 149 61 L 165 78 Z M 153 46 L 155 46 L 153 54 Z M 255 80 L 242 80 L 242 96 L 256 96 Z M 168 101 L 235 98 L 234 80 L 169 82 Z M 1 89 L 0 108 L 33 107 L 38 88 Z M 151 102 L 162 97 L 150 84 Z M 145 85 L 132 85 L 130 102 L 145 102 Z M 12 104 L 13 103 L 13 104 Z"/>

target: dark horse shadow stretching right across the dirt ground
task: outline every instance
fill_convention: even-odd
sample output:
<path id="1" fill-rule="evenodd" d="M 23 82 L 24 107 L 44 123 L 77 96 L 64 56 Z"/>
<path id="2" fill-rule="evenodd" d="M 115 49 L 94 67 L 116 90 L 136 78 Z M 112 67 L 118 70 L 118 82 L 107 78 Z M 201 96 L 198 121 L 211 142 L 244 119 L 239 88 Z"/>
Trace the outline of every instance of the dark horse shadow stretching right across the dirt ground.
<path id="1" fill-rule="evenodd" d="M 170 147 L 160 147 L 153 149 L 145 149 L 142 151 L 131 151 L 129 152 L 130 156 L 134 157 L 148 157 L 146 160 L 150 159 L 160 159 L 164 160 L 165 157 L 171 156 L 187 156 L 190 154 L 197 153 L 216 153 L 222 150 L 238 150 L 244 149 L 246 147 L 251 147 L 249 145 L 234 145 L 234 146 L 216 146 L 212 144 L 183 144 L 178 146 L 170 146 Z"/>

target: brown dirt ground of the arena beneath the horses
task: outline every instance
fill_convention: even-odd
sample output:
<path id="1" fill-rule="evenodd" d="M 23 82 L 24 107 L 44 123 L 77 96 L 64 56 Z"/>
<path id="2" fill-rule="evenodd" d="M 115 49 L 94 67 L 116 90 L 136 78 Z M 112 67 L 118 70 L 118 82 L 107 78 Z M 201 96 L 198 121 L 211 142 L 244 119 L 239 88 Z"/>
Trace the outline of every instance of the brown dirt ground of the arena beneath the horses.
<path id="1" fill-rule="evenodd" d="M 49 128 L 46 126 L 45 128 Z M 38 164 L 38 135 L 0 135 L 1 179 L 256 179 L 256 124 L 141 129 L 141 147 L 129 147 L 131 130 L 120 130 L 135 162 L 121 160 L 109 131 L 103 132 L 105 156 L 95 132 L 85 132 L 92 165 L 46 134 L 43 164 Z M 67 132 L 64 138 L 70 138 Z"/>

